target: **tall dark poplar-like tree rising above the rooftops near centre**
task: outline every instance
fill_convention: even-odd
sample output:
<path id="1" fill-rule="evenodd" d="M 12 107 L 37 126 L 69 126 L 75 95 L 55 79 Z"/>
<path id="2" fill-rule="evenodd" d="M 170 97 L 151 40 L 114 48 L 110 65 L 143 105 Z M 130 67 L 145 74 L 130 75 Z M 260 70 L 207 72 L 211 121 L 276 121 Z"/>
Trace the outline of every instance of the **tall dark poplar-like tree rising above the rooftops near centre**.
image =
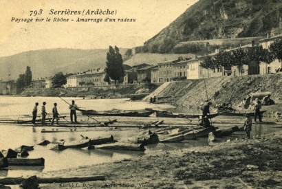
<path id="1" fill-rule="evenodd" d="M 109 78 L 115 81 L 115 85 L 120 78 L 125 76 L 125 71 L 122 66 L 123 60 L 122 55 L 120 54 L 120 50 L 118 47 L 109 46 L 109 52 L 107 52 L 107 67 L 105 68 L 106 76 L 108 75 Z"/>

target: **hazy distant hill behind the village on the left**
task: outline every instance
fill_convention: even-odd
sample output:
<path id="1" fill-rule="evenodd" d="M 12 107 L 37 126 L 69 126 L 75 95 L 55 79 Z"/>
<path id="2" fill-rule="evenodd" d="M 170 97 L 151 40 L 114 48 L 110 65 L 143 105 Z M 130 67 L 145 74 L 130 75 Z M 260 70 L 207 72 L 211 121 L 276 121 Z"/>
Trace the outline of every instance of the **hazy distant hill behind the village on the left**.
<path id="1" fill-rule="evenodd" d="M 17 80 L 31 67 L 32 78 L 54 76 L 56 72 L 77 73 L 88 69 L 104 68 L 109 49 L 41 49 L 12 56 L 0 57 L 0 79 Z M 124 54 L 127 49 L 120 49 Z"/>

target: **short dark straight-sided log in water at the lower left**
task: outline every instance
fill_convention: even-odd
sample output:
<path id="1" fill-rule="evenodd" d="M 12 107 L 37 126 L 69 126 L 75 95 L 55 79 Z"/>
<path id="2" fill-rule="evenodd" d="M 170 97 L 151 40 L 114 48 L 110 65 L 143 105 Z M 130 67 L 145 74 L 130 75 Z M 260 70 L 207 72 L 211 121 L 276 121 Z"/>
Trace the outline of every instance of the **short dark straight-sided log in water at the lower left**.
<path id="1" fill-rule="evenodd" d="M 8 164 L 10 166 L 44 166 L 44 158 L 35 159 L 21 159 L 21 158 L 8 158 Z"/>

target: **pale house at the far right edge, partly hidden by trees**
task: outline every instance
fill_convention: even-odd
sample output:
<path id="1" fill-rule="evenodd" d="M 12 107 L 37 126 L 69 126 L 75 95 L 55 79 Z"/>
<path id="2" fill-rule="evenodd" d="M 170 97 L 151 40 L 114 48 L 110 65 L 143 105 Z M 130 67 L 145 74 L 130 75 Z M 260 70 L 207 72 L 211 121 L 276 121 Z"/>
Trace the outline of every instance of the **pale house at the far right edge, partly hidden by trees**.
<path id="1" fill-rule="evenodd" d="M 272 36 L 270 38 L 263 38 L 259 41 L 259 44 L 263 47 L 263 49 L 269 49 L 270 44 L 273 43 L 276 39 L 282 39 L 282 34 Z M 281 64 L 282 63 L 279 63 L 278 59 L 274 60 L 270 64 L 261 62 L 259 65 L 259 74 L 273 74 L 277 69 L 280 69 L 282 67 Z"/>

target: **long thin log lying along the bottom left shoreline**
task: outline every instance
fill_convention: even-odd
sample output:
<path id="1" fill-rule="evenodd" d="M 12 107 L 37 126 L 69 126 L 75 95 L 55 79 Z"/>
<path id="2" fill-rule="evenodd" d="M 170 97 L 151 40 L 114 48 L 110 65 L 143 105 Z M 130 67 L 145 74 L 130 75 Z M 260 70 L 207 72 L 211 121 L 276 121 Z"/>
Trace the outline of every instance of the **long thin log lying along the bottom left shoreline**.
<path id="1" fill-rule="evenodd" d="M 8 177 L 0 179 L 0 184 L 21 184 L 25 179 L 23 177 Z M 84 181 L 104 181 L 105 176 L 76 176 L 76 177 L 51 177 L 51 178 L 44 178 L 44 177 L 37 177 L 37 181 L 39 184 L 47 184 L 47 183 L 66 183 L 66 182 L 84 182 Z"/>

